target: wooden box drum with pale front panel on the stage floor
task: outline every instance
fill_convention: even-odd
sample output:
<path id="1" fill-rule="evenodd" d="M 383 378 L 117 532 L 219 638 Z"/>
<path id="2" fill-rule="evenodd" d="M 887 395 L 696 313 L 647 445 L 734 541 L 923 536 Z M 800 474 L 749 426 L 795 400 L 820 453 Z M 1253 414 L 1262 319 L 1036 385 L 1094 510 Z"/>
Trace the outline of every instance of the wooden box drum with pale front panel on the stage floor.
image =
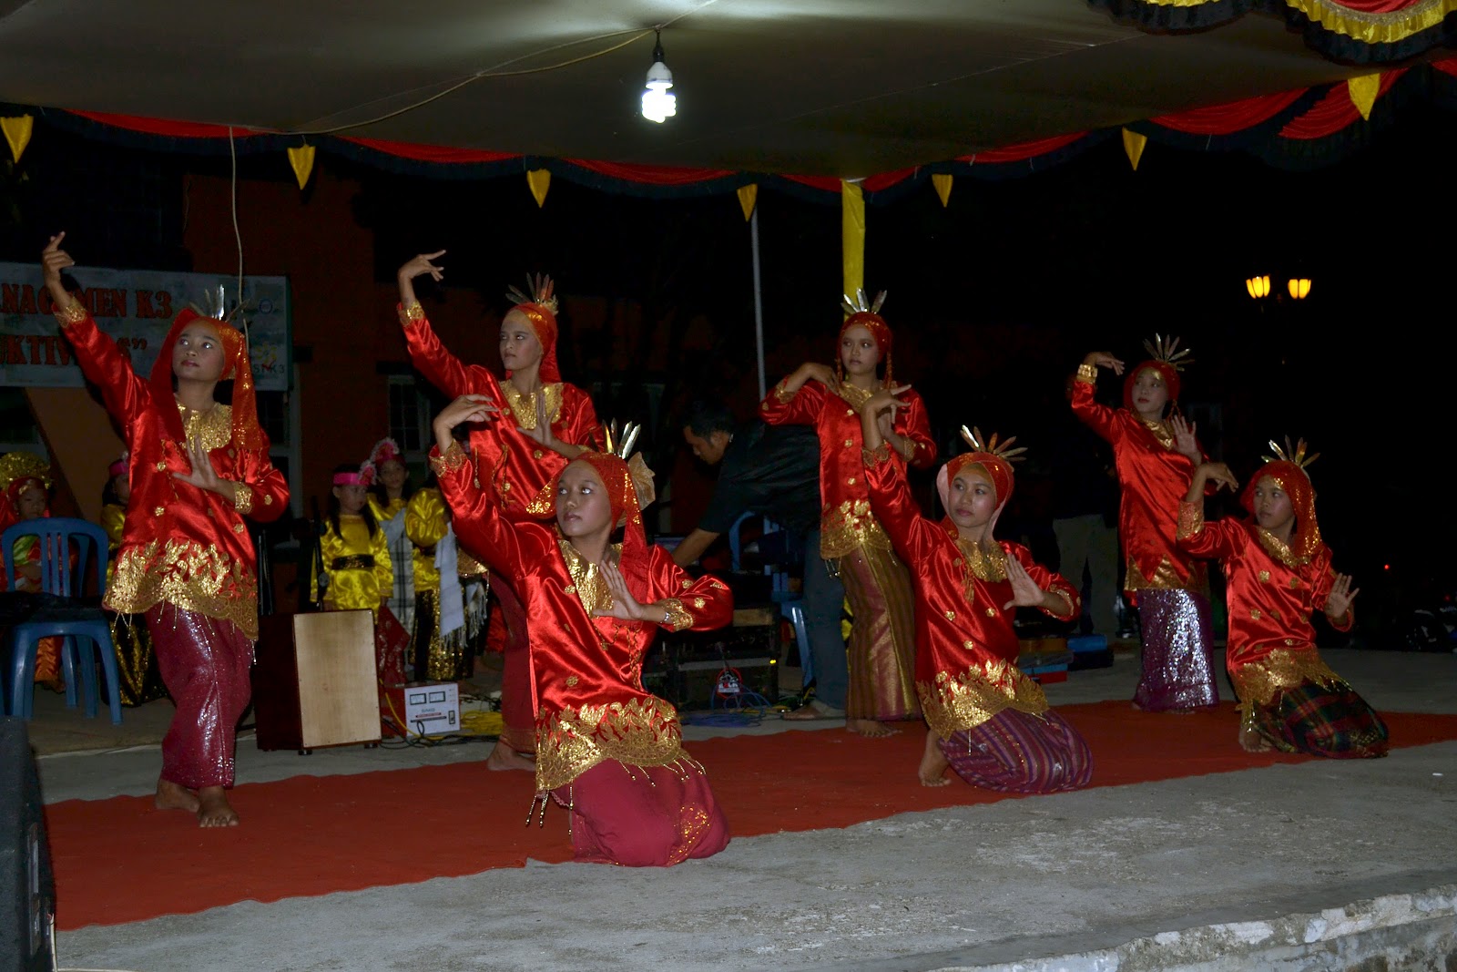
<path id="1" fill-rule="evenodd" d="M 259 749 L 377 745 L 379 681 L 369 611 L 280 614 L 261 621 L 254 663 Z"/>

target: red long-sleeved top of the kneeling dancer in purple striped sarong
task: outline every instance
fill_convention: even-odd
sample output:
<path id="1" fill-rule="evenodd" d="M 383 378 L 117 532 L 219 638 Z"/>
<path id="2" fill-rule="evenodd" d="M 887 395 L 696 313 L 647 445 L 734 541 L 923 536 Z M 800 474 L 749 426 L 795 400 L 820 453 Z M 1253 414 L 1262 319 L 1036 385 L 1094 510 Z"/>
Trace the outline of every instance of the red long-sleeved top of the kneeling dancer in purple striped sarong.
<path id="1" fill-rule="evenodd" d="M 870 504 L 911 568 L 915 587 L 915 681 L 927 723 L 943 739 L 975 729 L 1004 708 L 1040 714 L 1048 710 L 1042 686 L 1017 667 L 1020 644 L 1013 628 L 1016 608 L 1004 564 L 957 541 L 950 520 L 921 516 L 900 460 L 887 447 L 863 459 Z M 1032 558 L 1020 544 L 1000 544 L 1043 590 L 1064 595 L 1068 614 L 1043 611 L 1058 621 L 1078 616 L 1078 592 L 1064 577 Z"/>

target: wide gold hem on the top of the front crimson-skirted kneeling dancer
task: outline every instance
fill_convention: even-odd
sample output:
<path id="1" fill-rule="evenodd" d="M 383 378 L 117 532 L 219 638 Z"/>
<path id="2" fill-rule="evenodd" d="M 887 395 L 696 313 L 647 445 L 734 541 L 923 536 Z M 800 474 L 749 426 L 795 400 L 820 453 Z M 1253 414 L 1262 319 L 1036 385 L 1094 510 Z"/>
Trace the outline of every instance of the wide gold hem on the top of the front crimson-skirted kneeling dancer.
<path id="1" fill-rule="evenodd" d="M 567 707 L 536 726 L 536 790 L 564 787 L 603 759 L 627 767 L 688 761 L 678 710 L 660 698 Z"/>

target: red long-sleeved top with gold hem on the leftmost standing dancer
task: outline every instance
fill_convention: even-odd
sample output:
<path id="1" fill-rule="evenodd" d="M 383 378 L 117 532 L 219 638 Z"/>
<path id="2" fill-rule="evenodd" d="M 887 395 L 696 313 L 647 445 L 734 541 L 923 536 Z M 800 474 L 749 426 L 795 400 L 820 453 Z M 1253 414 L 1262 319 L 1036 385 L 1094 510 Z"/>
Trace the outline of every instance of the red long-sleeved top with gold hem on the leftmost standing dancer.
<path id="1" fill-rule="evenodd" d="M 143 614 L 168 602 L 236 624 L 258 638 L 256 555 L 243 516 L 278 519 L 288 504 L 288 484 L 262 449 L 239 449 L 232 440 L 232 409 L 216 405 L 195 414 L 188 434 L 201 436 L 213 468 L 237 482 L 237 503 L 175 479 L 192 469 L 186 443 L 170 437 L 165 409 L 176 399 L 154 401 L 152 385 L 131 370 L 117 344 L 90 315 L 64 326 L 82 373 L 101 389 L 106 411 L 121 426 L 131 453 L 131 500 L 122 526 L 117 568 L 106 586 L 106 606 Z"/>

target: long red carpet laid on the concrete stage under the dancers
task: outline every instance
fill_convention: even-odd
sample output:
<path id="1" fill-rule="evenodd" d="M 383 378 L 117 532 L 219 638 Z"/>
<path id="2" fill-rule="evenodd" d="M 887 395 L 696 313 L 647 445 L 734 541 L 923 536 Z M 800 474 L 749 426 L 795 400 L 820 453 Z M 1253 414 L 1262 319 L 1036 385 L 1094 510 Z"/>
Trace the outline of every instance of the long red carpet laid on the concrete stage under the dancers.
<path id="1" fill-rule="evenodd" d="M 1231 704 L 1150 716 L 1128 702 L 1058 710 L 1093 748 L 1093 785 L 1230 772 L 1300 756 L 1250 755 L 1234 743 Z M 1386 716 L 1399 746 L 1457 739 L 1457 716 Z M 739 736 L 689 745 L 708 767 L 734 836 L 839 828 L 906 810 L 991 803 L 1005 794 L 915 775 L 924 730 L 861 739 L 842 730 Z M 481 749 L 484 759 L 485 748 Z M 300 759 L 306 769 L 307 761 Z M 67 800 L 47 807 L 63 930 L 191 914 L 571 858 L 567 813 L 523 825 L 532 777 L 482 762 L 243 785 L 239 828 L 203 831 L 157 812 L 152 797 Z"/>

